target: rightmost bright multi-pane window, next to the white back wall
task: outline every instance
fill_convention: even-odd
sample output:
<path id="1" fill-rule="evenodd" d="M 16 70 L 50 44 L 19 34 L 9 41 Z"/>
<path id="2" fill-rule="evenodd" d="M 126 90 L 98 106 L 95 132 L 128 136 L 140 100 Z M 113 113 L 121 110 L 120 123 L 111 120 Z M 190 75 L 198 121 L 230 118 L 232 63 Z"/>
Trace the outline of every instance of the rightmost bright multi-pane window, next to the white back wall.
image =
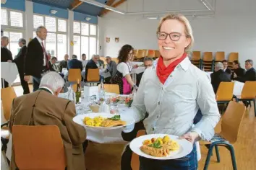
<path id="1" fill-rule="evenodd" d="M 78 59 L 85 53 L 87 59 L 97 54 L 97 25 L 74 22 L 74 54 Z"/>

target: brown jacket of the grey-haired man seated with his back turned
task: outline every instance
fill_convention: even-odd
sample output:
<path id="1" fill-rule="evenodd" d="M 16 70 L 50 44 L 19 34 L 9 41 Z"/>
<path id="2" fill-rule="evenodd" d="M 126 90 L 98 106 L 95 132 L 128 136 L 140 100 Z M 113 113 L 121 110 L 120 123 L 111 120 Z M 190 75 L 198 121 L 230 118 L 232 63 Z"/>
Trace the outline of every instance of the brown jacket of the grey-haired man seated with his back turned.
<path id="1" fill-rule="evenodd" d="M 75 113 L 73 102 L 39 89 L 13 100 L 9 130 L 12 133 L 12 125 L 57 125 L 64 143 L 67 169 L 85 170 L 82 143 L 86 139 L 86 133 L 82 126 L 73 122 Z M 12 151 L 10 169 L 16 167 Z"/>

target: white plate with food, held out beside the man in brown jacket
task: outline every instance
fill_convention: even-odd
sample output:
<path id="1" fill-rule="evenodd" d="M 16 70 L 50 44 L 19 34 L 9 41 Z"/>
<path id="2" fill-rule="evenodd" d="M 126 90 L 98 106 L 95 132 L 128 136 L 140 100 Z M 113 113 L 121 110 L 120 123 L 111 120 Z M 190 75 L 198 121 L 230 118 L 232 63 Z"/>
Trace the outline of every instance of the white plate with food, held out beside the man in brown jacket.
<path id="1" fill-rule="evenodd" d="M 111 130 L 124 128 L 127 125 L 135 123 L 133 117 L 125 115 L 112 115 L 109 113 L 88 113 L 84 115 L 77 115 L 73 121 L 85 128 L 98 130 Z"/>

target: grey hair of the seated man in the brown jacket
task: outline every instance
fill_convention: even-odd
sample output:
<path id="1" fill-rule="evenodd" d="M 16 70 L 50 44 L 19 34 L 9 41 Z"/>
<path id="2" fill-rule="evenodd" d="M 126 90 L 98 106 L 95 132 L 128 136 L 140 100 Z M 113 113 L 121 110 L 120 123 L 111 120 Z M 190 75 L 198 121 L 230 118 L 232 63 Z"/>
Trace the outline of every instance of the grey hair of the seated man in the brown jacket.
<path id="1" fill-rule="evenodd" d="M 51 89 L 54 93 L 64 86 L 64 79 L 54 71 L 50 71 L 43 75 L 39 87 L 46 86 Z"/>

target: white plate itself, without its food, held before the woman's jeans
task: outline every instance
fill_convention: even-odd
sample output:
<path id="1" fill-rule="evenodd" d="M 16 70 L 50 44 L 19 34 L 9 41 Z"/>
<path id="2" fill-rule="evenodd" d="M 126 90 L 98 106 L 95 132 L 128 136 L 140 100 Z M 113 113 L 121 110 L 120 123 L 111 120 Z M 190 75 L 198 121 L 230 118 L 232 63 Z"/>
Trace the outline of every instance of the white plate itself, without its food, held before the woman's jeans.
<path id="1" fill-rule="evenodd" d="M 143 142 L 145 140 L 151 140 L 152 138 L 163 138 L 165 136 L 168 136 L 171 140 L 176 141 L 176 143 L 179 144 L 179 148 L 176 148 L 175 151 L 170 151 L 167 156 L 151 156 L 148 153 L 143 152 L 140 147 L 143 146 Z M 132 142 L 129 144 L 129 147 L 132 149 L 133 152 L 135 152 L 137 155 L 145 157 L 145 158 L 152 158 L 152 159 L 158 159 L 158 160 L 168 160 L 168 159 L 176 159 L 176 158 L 182 158 L 184 156 L 187 156 L 192 151 L 192 143 L 190 143 L 186 139 L 178 139 L 179 137 L 176 135 L 168 135 L 168 134 L 150 134 L 150 135 L 142 135 L 138 138 L 135 138 L 132 140 Z M 157 143 L 160 144 L 160 143 Z M 146 145 L 148 146 L 148 145 Z M 152 146 L 152 145 L 151 145 Z M 158 146 L 159 147 L 159 146 Z M 161 146 L 160 146 L 161 147 Z"/>

